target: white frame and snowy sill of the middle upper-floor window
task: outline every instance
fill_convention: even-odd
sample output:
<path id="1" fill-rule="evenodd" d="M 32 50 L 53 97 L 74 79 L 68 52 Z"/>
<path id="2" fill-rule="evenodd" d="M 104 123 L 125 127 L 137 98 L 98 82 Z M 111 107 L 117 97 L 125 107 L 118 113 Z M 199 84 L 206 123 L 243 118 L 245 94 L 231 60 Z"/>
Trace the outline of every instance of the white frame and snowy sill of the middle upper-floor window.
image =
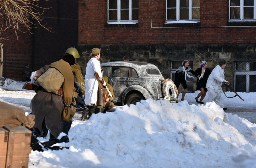
<path id="1" fill-rule="evenodd" d="M 200 8 L 200 7 L 199 7 Z M 167 9 L 171 9 L 167 7 L 166 0 L 166 24 L 169 23 L 199 23 L 200 19 L 192 19 L 192 0 L 188 1 L 188 20 L 181 20 L 180 18 L 180 0 L 176 0 L 176 20 L 167 20 Z"/>

